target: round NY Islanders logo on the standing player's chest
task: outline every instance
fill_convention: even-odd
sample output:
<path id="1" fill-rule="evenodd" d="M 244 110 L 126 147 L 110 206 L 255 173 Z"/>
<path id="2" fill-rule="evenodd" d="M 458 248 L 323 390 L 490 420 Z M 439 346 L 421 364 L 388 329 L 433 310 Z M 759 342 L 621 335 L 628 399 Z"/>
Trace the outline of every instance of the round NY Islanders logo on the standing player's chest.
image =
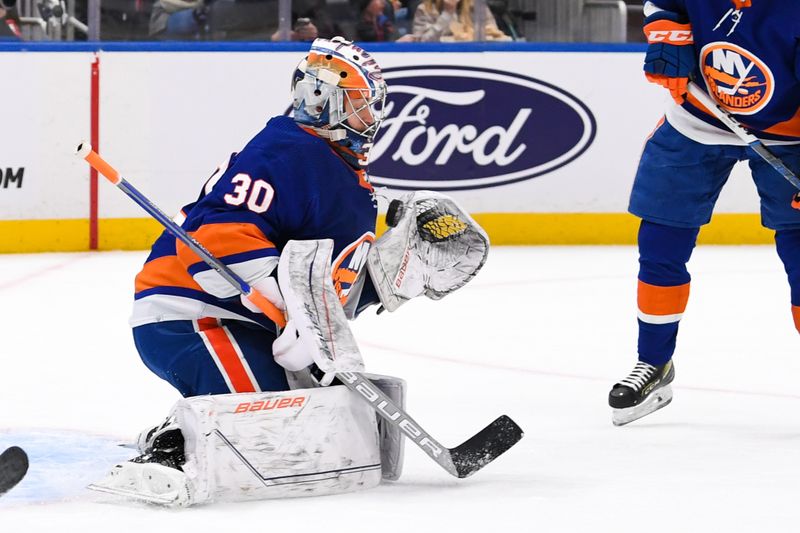
<path id="1" fill-rule="evenodd" d="M 731 113 L 753 115 L 772 99 L 772 71 L 740 46 L 709 43 L 700 51 L 700 66 L 711 94 Z"/>

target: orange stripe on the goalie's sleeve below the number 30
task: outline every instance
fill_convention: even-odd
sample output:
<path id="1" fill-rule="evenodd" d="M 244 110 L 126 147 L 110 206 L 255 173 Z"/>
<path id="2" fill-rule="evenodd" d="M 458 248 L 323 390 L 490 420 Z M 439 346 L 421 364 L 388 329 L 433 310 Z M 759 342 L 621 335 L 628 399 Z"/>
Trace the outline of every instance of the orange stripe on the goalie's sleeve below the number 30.
<path id="1" fill-rule="evenodd" d="M 202 244 L 212 255 L 225 257 L 228 255 L 263 248 L 275 248 L 275 245 L 264 236 L 255 224 L 241 222 L 224 222 L 206 224 L 197 231 L 189 233 Z M 178 241 L 178 258 L 188 268 L 202 261 L 188 246 Z"/>

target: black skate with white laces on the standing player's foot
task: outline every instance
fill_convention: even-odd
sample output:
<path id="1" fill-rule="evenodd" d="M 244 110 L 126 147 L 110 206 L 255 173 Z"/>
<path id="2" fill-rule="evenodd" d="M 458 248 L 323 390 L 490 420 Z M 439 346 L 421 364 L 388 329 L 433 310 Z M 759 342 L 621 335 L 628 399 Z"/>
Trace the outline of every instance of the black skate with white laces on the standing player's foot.
<path id="1" fill-rule="evenodd" d="M 611 421 L 615 426 L 624 426 L 666 407 L 672 401 L 670 383 L 674 378 L 672 360 L 661 366 L 636 363 L 628 377 L 615 384 L 608 394 Z"/>

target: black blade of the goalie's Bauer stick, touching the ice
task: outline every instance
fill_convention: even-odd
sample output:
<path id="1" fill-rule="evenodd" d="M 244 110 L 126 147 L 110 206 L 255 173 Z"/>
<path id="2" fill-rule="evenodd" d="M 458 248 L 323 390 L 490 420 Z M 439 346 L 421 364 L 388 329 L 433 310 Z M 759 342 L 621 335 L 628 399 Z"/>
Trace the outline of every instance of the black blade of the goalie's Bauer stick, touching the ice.
<path id="1" fill-rule="evenodd" d="M 468 441 L 452 448 L 450 457 L 459 478 L 471 476 L 522 439 L 524 433 L 506 415 L 476 433 Z"/>

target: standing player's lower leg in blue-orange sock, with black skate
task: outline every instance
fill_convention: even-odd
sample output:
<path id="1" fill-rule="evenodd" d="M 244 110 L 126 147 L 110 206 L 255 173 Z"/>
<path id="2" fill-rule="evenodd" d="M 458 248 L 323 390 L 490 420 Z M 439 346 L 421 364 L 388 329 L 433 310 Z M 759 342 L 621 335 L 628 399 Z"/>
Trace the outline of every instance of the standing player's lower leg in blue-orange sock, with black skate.
<path id="1" fill-rule="evenodd" d="M 672 354 L 678 324 L 689 298 L 686 263 L 697 228 L 674 228 L 642 221 L 639 228 L 639 361 L 614 385 L 608 403 L 621 426 L 672 401 Z"/>

